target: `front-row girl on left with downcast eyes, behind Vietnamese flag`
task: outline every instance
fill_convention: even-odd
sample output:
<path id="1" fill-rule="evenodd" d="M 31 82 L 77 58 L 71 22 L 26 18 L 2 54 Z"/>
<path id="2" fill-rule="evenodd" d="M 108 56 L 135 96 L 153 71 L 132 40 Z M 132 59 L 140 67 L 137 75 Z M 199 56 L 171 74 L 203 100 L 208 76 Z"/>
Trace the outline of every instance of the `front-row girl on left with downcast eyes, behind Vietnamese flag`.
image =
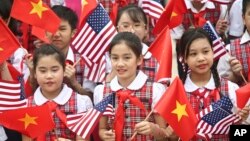
<path id="1" fill-rule="evenodd" d="M 60 50 L 53 45 L 42 45 L 34 52 L 33 65 L 34 77 L 39 87 L 34 96 L 29 97 L 28 107 L 53 101 L 66 115 L 84 112 L 92 108 L 92 102 L 88 96 L 77 94 L 63 83 L 65 57 Z M 53 119 L 56 124 L 55 131 L 46 133 L 46 140 L 53 140 L 56 137 L 71 140 L 81 139 L 76 137 L 76 134 L 71 132 L 54 113 Z M 23 140 L 28 140 L 28 137 L 23 135 Z"/>

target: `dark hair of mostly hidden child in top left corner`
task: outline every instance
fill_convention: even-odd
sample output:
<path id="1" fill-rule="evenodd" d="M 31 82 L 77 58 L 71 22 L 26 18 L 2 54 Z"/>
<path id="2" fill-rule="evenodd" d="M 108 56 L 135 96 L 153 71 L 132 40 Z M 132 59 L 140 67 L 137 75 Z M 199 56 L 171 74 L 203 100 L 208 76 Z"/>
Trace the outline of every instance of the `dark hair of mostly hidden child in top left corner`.
<path id="1" fill-rule="evenodd" d="M 13 4 L 13 0 L 0 0 L 0 16 L 3 20 L 8 20 L 10 17 L 10 11 Z M 18 21 L 10 18 L 8 27 L 15 35 L 21 35 L 17 30 Z"/>

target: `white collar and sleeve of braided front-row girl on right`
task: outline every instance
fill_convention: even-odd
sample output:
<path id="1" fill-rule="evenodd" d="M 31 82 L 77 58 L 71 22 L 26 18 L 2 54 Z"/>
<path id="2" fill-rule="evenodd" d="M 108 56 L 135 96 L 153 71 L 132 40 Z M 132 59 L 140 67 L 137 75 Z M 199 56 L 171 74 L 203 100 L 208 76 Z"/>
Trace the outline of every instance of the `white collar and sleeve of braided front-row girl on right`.
<path id="1" fill-rule="evenodd" d="M 228 82 L 228 96 L 233 103 L 232 112 L 237 113 L 237 106 L 236 106 L 237 100 L 236 100 L 235 91 L 239 88 L 239 86 L 231 81 L 227 81 L 227 82 Z M 205 90 L 205 88 L 209 89 L 209 90 L 214 90 L 216 87 L 215 87 L 213 75 L 211 75 L 210 80 L 208 81 L 208 83 L 204 87 L 198 87 L 196 84 L 194 84 L 192 82 L 192 80 L 190 79 L 190 75 L 188 74 L 187 79 L 185 80 L 184 88 L 185 88 L 186 92 L 191 93 L 197 89 L 199 89 L 199 91 L 202 92 Z M 205 97 L 208 94 L 209 94 L 209 92 L 205 93 Z M 249 105 L 249 104 L 250 104 L 250 100 L 248 100 L 248 103 L 246 105 Z M 250 116 L 248 117 L 247 121 L 250 122 Z M 244 122 L 243 122 L 243 124 L 244 124 Z"/>

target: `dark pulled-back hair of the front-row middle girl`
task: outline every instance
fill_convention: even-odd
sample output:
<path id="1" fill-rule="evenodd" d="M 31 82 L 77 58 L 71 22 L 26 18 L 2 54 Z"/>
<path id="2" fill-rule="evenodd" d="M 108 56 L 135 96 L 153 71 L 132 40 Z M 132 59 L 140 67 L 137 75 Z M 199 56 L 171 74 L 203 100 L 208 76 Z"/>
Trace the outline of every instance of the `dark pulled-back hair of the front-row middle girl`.
<path id="1" fill-rule="evenodd" d="M 109 53 L 111 54 L 112 48 L 117 45 L 125 43 L 136 55 L 136 57 L 140 57 L 142 54 L 142 44 L 135 34 L 131 32 L 120 32 L 115 35 L 115 37 L 112 39 L 110 46 L 109 46 Z"/>

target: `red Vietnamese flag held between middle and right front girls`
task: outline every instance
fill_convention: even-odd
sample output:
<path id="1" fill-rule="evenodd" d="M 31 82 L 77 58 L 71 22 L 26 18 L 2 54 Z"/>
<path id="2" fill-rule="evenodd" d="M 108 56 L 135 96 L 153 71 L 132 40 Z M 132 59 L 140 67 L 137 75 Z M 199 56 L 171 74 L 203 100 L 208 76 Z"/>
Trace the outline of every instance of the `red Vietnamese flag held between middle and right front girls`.
<path id="1" fill-rule="evenodd" d="M 154 108 L 184 141 L 196 133 L 198 119 L 187 99 L 182 81 L 176 77 Z"/>

